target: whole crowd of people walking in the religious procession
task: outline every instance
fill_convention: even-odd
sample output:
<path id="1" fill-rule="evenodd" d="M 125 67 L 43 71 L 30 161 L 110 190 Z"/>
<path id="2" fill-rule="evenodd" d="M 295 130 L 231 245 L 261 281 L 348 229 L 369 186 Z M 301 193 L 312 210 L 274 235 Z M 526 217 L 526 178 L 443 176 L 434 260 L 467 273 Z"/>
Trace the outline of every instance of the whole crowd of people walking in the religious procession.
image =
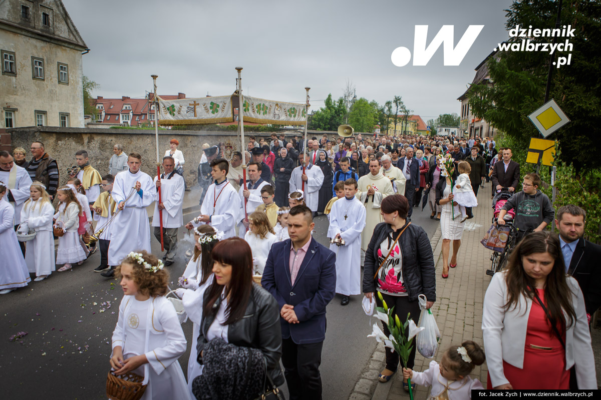
<path id="1" fill-rule="evenodd" d="M 291 399 L 320 399 L 328 303 L 338 294 L 348 305 L 364 293 L 370 303 L 394 306 L 401 320 L 410 312 L 418 321 L 418 296 L 427 297 L 427 309 L 437 301 L 436 271 L 413 209 L 429 204 L 430 218 L 440 221 L 448 278 L 472 207 L 489 206 L 477 201 L 485 181 L 493 197 L 513 193 L 496 223 L 513 210 L 521 236 L 486 291 L 484 343 L 451 347 L 423 372 L 413 371 L 415 346 L 406 363 L 386 348 L 378 380 L 389 381 L 401 363 L 406 390 L 410 379 L 432 386 L 433 397 L 469 398 L 482 387 L 469 373 L 486 360 L 490 389 L 597 388 L 589 323 L 601 305 L 594 264 L 601 247 L 583 238 L 585 210 L 564 206 L 555 215 L 538 175 L 525 175 L 517 190 L 511 149 L 497 149 L 492 138 L 376 134 L 313 137 L 305 149 L 301 137 L 272 134 L 270 142 L 250 136 L 244 155 L 225 160 L 221 144 L 207 144 L 198 166 L 200 215 L 185 224 L 178 144 L 171 140 L 154 177 L 141 171 L 140 154 L 121 145 L 105 175 L 78 151 L 61 186 L 43 143 L 32 143 L 31 161 L 22 148 L 0 152 L 0 293 L 25 287 L 30 273 L 43 281 L 57 264 L 58 272 L 71 270 L 100 248 L 94 271 L 117 276 L 124 291 L 111 368 L 147 377 L 144 399 L 253 399 L 284 378 Z M 151 205 L 162 259 L 151 254 Z M 319 213 L 327 215 L 329 248 L 313 238 Z M 559 234 L 546 229 L 554 218 Z M 165 300 L 165 267 L 177 260 L 182 227 L 195 246 L 175 294 L 194 325 L 191 348 Z M 386 324 L 383 332 L 391 333 Z M 186 349 L 184 375 L 177 359 Z"/>

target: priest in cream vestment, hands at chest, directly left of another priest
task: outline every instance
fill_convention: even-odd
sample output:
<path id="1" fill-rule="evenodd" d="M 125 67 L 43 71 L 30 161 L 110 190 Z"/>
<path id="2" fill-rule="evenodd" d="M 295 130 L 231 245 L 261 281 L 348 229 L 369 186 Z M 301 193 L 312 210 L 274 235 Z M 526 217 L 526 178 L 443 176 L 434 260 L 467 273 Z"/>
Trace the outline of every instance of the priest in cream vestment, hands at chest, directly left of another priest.
<path id="1" fill-rule="evenodd" d="M 359 178 L 359 192 L 356 194 L 357 199 L 361 200 L 361 204 L 365 207 L 367 215 L 365 228 L 361 233 L 361 265 L 365 260 L 365 251 L 370 244 L 374 228 L 384 221 L 380 214 L 382 200 L 389 194 L 394 194 L 390 179 L 380 172 L 380 163 L 377 160 L 371 160 L 369 167 L 370 172 Z"/>

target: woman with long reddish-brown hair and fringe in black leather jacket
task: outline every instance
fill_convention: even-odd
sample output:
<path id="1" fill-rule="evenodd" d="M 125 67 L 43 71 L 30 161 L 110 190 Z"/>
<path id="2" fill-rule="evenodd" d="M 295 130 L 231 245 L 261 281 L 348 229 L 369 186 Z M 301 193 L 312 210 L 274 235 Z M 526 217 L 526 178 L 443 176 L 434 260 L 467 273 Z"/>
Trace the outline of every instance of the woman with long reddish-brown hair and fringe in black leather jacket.
<path id="1" fill-rule="evenodd" d="M 212 251 L 215 280 L 204 293 L 203 319 L 198 335 L 198 363 L 204 365 L 203 350 L 213 339 L 223 339 L 238 347 L 258 349 L 263 353 L 267 374 L 275 384 L 284 383 L 279 366 L 282 355 L 282 331 L 279 324 L 278 303 L 273 296 L 252 281 L 252 253 L 245 240 L 231 237 L 219 242 Z M 208 349 L 207 349 L 208 350 Z M 243 380 L 240 371 L 228 371 L 231 362 L 222 365 L 204 365 L 203 375 L 217 372 L 219 377 L 234 375 L 234 381 Z M 207 369 L 212 371 L 207 371 Z M 254 365 L 248 365 L 254 368 Z M 236 375 L 238 374 L 238 375 Z M 200 377 L 199 377 L 200 378 Z M 198 378 L 197 378 L 198 379 Z M 267 378 L 264 378 L 266 383 Z M 220 379 L 224 382 L 223 379 Z M 238 383 L 239 384 L 239 383 Z M 219 391 L 218 387 L 212 390 Z M 236 398 L 256 398 L 261 393 L 237 393 Z"/>

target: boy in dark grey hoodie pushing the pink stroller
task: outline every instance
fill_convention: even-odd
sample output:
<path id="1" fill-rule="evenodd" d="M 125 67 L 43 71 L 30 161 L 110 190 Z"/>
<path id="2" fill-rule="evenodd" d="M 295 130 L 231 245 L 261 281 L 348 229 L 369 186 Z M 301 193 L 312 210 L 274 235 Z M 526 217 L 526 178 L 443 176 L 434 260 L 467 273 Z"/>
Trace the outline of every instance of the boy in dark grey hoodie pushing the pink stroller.
<path id="1" fill-rule="evenodd" d="M 508 210 L 514 209 L 516 218 L 513 225 L 519 230 L 542 231 L 545 227 L 551 224 L 555 216 L 555 210 L 551 205 L 549 197 L 538 190 L 540 185 L 540 177 L 538 174 L 529 173 L 524 176 L 522 182 L 522 191 L 514 194 L 507 200 L 507 203 L 499 212 L 497 223 L 505 225 L 503 217 Z"/>

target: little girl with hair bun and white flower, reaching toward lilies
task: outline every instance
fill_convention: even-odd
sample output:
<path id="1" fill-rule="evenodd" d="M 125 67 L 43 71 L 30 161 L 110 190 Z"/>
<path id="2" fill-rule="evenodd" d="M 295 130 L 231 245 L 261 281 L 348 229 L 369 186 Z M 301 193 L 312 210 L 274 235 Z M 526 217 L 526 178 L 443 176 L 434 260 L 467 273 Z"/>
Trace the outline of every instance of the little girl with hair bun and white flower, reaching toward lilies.
<path id="1" fill-rule="evenodd" d="M 432 399 L 471 399 L 472 390 L 484 389 L 477 379 L 469 374 L 477 365 L 484 363 L 484 350 L 471 340 L 460 346 L 451 346 L 442 355 L 441 363 L 430 361 L 424 372 L 403 368 L 403 378 L 410 378 L 412 383 L 432 386 Z"/>

